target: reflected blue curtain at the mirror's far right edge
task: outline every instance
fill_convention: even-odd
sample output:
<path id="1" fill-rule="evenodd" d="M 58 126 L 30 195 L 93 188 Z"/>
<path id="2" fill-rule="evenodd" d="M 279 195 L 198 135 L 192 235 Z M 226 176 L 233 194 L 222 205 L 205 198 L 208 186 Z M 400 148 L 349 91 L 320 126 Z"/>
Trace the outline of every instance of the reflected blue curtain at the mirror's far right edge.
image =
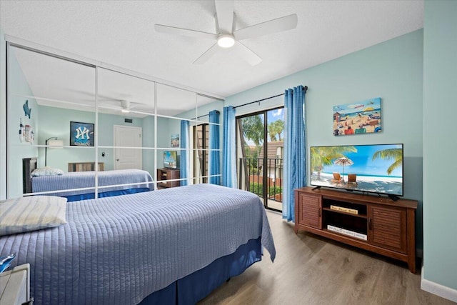
<path id="1" fill-rule="evenodd" d="M 219 111 L 213 110 L 209 113 L 209 183 L 221 184 L 221 159 L 219 157 L 221 147 L 219 146 Z M 218 125 L 215 125 L 218 124 Z M 212 176 L 211 175 L 219 175 Z"/>

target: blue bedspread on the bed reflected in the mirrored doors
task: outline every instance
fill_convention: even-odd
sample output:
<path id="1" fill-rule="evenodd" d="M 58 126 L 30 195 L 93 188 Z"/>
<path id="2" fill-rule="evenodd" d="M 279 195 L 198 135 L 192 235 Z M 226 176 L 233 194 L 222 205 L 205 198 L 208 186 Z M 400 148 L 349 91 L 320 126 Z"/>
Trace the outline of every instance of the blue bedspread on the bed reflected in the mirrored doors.
<path id="1" fill-rule="evenodd" d="M 146 182 L 152 182 L 151 174 L 149 174 L 148 171 L 142 171 L 141 169 L 121 169 L 98 172 L 99 192 L 137 188 L 154 189 L 152 183 Z M 53 193 L 49 195 L 55 196 L 73 196 L 94 193 L 95 171 L 72 171 L 60 176 L 32 177 L 31 188 L 34 193 L 53 191 Z M 62 191 L 67 189 L 79 190 Z"/>

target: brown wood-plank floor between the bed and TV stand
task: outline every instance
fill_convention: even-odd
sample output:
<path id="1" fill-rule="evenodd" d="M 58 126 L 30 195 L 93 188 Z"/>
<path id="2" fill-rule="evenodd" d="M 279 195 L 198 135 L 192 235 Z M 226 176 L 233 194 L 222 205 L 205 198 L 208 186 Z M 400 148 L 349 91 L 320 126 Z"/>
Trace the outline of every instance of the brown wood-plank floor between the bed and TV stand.
<path id="1" fill-rule="evenodd" d="M 281 214 L 266 214 L 275 262 L 265 250 L 262 261 L 199 304 L 456 304 L 421 290 L 421 275 L 402 262 L 303 231 L 294 234 Z"/>

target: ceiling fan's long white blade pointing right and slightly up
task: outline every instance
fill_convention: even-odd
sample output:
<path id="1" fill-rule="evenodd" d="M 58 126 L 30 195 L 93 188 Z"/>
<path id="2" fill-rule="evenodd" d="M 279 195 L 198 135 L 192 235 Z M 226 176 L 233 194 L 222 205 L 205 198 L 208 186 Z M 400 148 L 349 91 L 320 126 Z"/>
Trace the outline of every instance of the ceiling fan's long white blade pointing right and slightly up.
<path id="1" fill-rule="evenodd" d="M 296 14 L 291 14 L 288 16 L 283 16 L 278 19 L 273 19 L 270 21 L 262 22 L 261 24 L 256 24 L 253 26 L 248 26 L 244 29 L 239 29 L 238 31 L 233 32 L 236 40 L 254 38 L 258 36 L 263 36 L 267 34 L 277 33 L 279 31 L 287 31 L 290 29 L 295 29 L 298 23 L 298 18 Z"/>

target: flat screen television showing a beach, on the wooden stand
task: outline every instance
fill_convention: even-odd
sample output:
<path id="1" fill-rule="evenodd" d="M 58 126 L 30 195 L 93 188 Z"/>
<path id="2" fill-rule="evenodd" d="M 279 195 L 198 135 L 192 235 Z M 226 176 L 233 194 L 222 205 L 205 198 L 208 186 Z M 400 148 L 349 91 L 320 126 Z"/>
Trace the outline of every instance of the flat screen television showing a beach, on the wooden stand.
<path id="1" fill-rule="evenodd" d="M 311 186 L 403 196 L 403 144 L 311 146 Z"/>

